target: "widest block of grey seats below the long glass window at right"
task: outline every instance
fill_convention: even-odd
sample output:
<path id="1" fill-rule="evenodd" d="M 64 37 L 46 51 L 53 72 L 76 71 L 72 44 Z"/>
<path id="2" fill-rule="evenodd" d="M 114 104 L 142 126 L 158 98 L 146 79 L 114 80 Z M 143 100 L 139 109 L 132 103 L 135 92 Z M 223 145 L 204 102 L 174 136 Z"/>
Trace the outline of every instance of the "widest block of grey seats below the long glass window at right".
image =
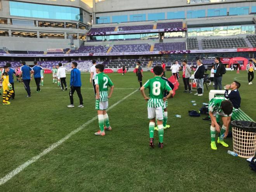
<path id="1" fill-rule="evenodd" d="M 220 38 L 220 39 L 203 39 L 203 49 L 209 48 L 234 48 L 248 47 L 244 38 Z"/>

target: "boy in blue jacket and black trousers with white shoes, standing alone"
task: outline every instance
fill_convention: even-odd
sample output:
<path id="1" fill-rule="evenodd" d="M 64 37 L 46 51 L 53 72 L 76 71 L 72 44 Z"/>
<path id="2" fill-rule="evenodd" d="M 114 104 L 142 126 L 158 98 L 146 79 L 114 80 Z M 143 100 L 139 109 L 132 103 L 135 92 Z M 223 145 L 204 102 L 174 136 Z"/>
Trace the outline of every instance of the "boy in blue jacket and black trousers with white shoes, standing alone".
<path id="1" fill-rule="evenodd" d="M 78 107 L 83 107 L 83 97 L 81 94 L 81 72 L 77 69 L 77 62 L 72 62 L 71 64 L 71 76 L 70 76 L 70 90 L 69 90 L 69 99 L 70 105 L 67 107 L 74 107 L 73 94 L 76 91 L 80 100 L 80 105 Z"/>

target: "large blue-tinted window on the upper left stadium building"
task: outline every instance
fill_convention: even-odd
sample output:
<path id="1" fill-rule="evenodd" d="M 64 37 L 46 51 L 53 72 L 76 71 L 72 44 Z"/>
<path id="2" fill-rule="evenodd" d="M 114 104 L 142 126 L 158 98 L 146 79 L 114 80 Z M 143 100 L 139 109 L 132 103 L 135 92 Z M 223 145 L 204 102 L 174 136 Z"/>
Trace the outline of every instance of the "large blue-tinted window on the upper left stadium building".
<path id="1" fill-rule="evenodd" d="M 10 15 L 45 19 L 80 20 L 80 9 L 57 5 L 42 5 L 10 1 Z M 81 17 L 83 18 L 83 17 Z"/>

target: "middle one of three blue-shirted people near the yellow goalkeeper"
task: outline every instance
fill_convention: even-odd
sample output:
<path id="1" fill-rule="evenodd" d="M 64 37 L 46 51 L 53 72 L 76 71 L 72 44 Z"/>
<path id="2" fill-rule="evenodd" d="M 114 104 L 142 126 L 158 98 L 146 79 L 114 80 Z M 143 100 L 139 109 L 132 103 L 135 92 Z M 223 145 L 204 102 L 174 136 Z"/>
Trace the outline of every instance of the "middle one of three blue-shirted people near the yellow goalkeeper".
<path id="1" fill-rule="evenodd" d="M 22 76 L 22 81 L 23 81 L 25 90 L 28 93 L 27 97 L 31 97 L 31 91 L 30 91 L 30 86 L 29 86 L 30 80 L 31 80 L 30 74 L 34 73 L 34 71 L 29 66 L 26 66 L 25 61 L 22 61 L 21 65 L 22 65 L 21 73 L 19 74 L 19 78 L 21 78 L 21 76 Z"/>

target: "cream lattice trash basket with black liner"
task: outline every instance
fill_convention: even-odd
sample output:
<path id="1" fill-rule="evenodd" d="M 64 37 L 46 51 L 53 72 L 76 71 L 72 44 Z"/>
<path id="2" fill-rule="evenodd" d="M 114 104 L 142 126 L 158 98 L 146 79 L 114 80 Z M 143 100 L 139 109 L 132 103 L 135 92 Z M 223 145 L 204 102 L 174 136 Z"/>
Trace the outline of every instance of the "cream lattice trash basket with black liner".
<path id="1" fill-rule="evenodd" d="M 256 123 L 232 121 L 233 149 L 239 157 L 254 157 L 256 151 Z"/>

